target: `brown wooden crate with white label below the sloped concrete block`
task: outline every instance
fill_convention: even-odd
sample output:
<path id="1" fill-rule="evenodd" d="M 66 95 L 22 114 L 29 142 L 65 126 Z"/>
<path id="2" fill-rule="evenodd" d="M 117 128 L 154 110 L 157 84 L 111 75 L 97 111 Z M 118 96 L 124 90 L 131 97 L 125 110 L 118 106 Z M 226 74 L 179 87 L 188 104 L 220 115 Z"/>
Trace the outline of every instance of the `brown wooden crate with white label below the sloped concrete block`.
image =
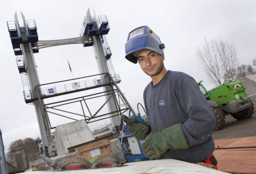
<path id="1" fill-rule="evenodd" d="M 76 148 L 76 155 L 79 158 L 84 158 L 89 162 L 94 162 L 98 157 L 104 155 L 113 155 L 110 140 L 102 140 Z"/>

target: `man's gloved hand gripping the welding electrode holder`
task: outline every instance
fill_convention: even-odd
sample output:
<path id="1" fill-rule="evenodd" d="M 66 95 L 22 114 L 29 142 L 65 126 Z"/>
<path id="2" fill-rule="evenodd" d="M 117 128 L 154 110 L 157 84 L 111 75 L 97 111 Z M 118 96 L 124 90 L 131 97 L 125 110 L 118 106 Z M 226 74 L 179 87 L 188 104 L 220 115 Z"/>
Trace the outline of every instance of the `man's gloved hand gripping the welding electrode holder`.
<path id="1" fill-rule="evenodd" d="M 129 131 L 135 138 L 138 138 L 139 140 L 144 140 L 145 137 L 147 136 L 147 132 L 149 131 L 149 128 L 142 124 L 132 124 L 131 126 L 128 127 Z"/>

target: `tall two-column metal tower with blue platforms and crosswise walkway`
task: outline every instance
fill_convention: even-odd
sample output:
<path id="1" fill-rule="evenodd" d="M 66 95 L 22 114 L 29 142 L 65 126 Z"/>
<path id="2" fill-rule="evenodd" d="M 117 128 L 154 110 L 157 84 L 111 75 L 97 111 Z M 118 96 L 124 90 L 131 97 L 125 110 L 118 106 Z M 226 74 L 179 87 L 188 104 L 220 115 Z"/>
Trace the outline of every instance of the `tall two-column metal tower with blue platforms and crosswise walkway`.
<path id="1" fill-rule="evenodd" d="M 84 22 L 82 24 L 80 37 L 50 41 L 38 41 L 37 27 L 35 21 L 25 20 L 25 17 L 22 13 L 21 16 L 23 19 L 23 26 L 19 25 L 17 13 L 15 13 L 15 21 L 7 22 L 8 31 L 11 37 L 14 53 L 16 55 L 17 66 L 21 75 L 21 82 L 23 84 L 25 102 L 33 102 L 34 104 L 38 124 L 40 127 L 41 138 L 44 146 L 49 146 L 49 144 L 53 141 L 50 129 L 55 128 L 50 125 L 50 120 L 48 116 L 48 112 L 53 112 L 50 112 L 47 109 L 56 109 L 54 107 L 74 102 L 80 102 L 84 114 L 73 114 L 83 116 L 87 123 L 93 122 L 93 119 L 98 119 L 99 117 L 105 116 L 105 118 L 103 119 L 110 118 L 113 127 L 119 126 L 121 124 L 119 116 L 123 112 L 126 112 L 130 109 L 130 112 L 135 114 L 134 110 L 131 108 L 125 96 L 123 96 L 122 92 L 117 86 L 117 83 L 121 82 L 121 80 L 119 78 L 119 75 L 115 74 L 114 67 L 111 62 L 112 54 L 105 36 L 105 34 L 109 32 L 109 23 L 105 15 L 101 15 L 96 18 L 95 13 L 94 16 L 91 16 L 90 10 L 88 9 L 87 16 L 84 18 Z M 84 47 L 93 46 L 100 74 L 77 79 L 69 79 L 60 82 L 40 84 L 33 53 L 38 53 L 38 49 L 45 47 L 67 45 L 74 43 L 82 43 Z M 94 79 L 89 79 L 92 77 L 94 77 Z M 70 80 L 78 79 L 83 79 L 83 81 L 78 82 L 79 84 L 81 84 L 81 86 L 79 85 L 76 88 L 68 87 L 69 85 L 71 86 Z M 69 84 L 63 84 L 65 82 Z M 49 85 L 51 87 L 54 85 L 55 86 L 49 88 Z M 98 87 L 103 87 L 104 92 L 88 96 L 82 96 L 80 98 L 63 100 L 50 104 L 44 104 L 44 99 L 46 98 L 89 90 Z M 86 100 L 100 96 L 105 96 L 106 102 L 98 109 L 96 113 L 92 114 L 88 108 L 88 105 L 86 104 Z M 65 103 L 66 101 L 70 102 Z M 85 115 L 82 101 L 86 105 L 86 108 L 90 113 L 90 116 Z M 61 104 L 52 106 L 52 104 L 57 103 Z M 99 111 L 101 111 L 105 104 L 107 104 L 109 113 L 98 115 Z M 62 111 L 60 109 L 56 110 Z M 63 112 L 72 113 L 68 111 Z"/>

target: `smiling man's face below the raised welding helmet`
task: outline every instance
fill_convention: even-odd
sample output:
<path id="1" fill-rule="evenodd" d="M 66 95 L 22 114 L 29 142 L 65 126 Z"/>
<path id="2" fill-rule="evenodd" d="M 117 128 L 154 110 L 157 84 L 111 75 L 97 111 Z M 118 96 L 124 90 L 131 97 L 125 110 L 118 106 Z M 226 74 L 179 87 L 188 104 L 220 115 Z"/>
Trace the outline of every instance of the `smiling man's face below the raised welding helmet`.
<path id="1" fill-rule="evenodd" d="M 164 54 L 158 54 L 149 49 L 143 49 L 137 54 L 139 65 L 141 69 L 149 76 L 160 74 L 164 65 Z"/>

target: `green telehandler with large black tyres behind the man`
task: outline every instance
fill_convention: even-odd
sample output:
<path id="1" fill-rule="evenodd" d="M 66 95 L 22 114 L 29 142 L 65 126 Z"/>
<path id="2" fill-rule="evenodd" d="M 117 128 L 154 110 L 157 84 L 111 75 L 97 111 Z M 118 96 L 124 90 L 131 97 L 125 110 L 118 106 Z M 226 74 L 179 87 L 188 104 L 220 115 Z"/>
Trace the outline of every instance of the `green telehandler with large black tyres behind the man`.
<path id="1" fill-rule="evenodd" d="M 203 80 L 198 83 L 198 86 L 216 117 L 215 130 L 223 128 L 225 123 L 225 115 L 232 115 L 237 120 L 244 120 L 252 117 L 254 107 L 252 100 L 246 96 L 245 88 L 241 80 L 231 82 L 226 80 L 220 86 L 206 91 L 202 84 Z"/>

